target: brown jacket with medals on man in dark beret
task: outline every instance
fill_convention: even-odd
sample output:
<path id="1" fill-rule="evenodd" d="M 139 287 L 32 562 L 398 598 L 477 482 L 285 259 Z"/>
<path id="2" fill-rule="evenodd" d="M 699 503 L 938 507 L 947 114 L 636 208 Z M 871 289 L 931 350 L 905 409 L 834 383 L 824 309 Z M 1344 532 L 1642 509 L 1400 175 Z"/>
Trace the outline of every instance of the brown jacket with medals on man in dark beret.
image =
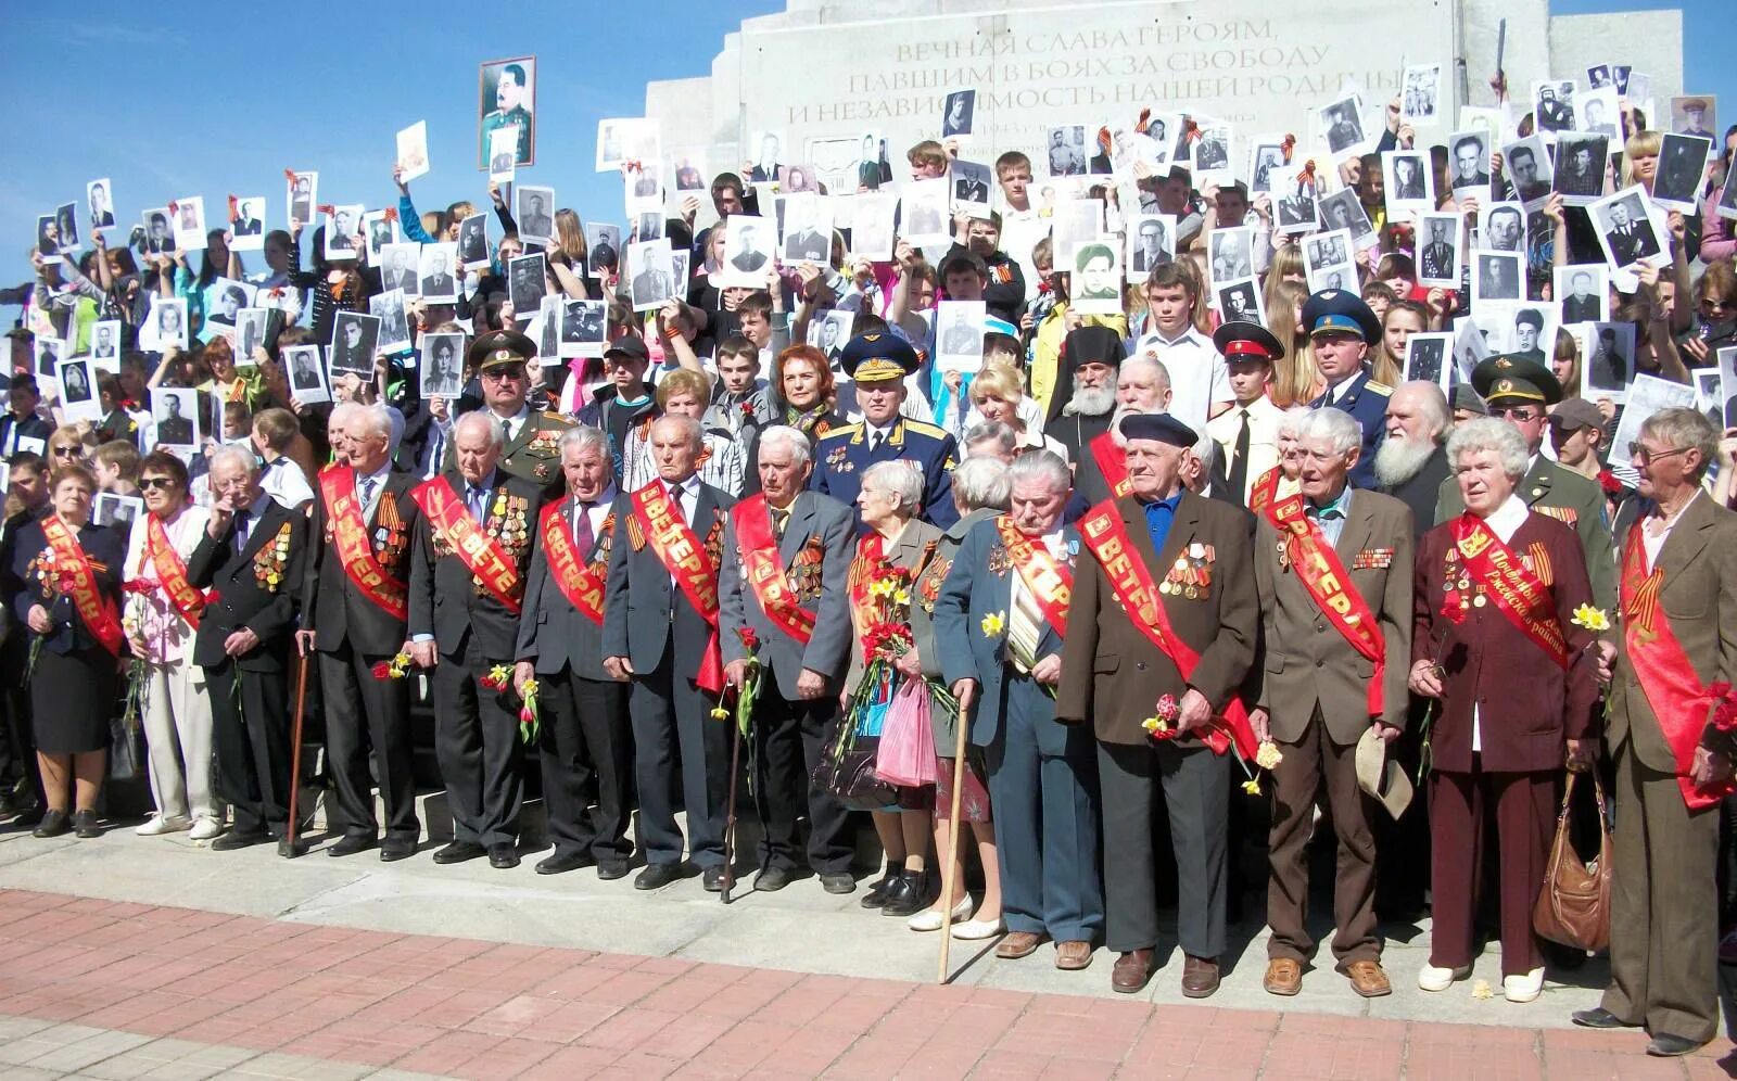
<path id="1" fill-rule="evenodd" d="M 1159 695 L 1171 693 L 1181 700 L 1193 686 L 1214 709 L 1223 709 L 1254 662 L 1261 626 L 1251 556 L 1254 516 L 1228 502 L 1185 492 L 1159 553 L 1152 547 L 1139 501 L 1126 495 L 1115 501 L 1115 507 L 1153 584 L 1164 580 L 1193 542 L 1211 544 L 1216 554 L 1212 582 L 1202 598 L 1157 598 L 1176 634 L 1200 653 L 1200 664 L 1186 683 L 1176 664 L 1117 605 L 1096 556 L 1087 551 L 1075 568 L 1056 720 L 1075 725 L 1093 721 L 1100 742 L 1145 744 L 1148 735 L 1139 723 L 1152 716 Z"/>

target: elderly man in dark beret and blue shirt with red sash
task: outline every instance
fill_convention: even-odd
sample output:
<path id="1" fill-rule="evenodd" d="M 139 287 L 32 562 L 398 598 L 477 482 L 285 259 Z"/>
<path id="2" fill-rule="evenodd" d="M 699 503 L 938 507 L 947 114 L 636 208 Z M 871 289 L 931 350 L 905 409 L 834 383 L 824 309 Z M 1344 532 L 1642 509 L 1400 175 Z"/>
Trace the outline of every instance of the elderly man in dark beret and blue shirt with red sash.
<path id="1" fill-rule="evenodd" d="M 1254 754 L 1237 702 L 1259 638 L 1254 518 L 1183 488 L 1183 455 L 1200 440 L 1190 426 L 1136 414 L 1120 429 L 1134 490 L 1079 521 L 1091 558 L 1073 575 L 1056 718 L 1091 721 L 1098 737 L 1106 942 L 1119 954 L 1112 989 L 1134 994 L 1152 978 L 1152 812 L 1162 787 L 1176 848 L 1181 987 L 1205 998 L 1218 991 L 1225 952 L 1225 753 L 1235 739 Z"/>

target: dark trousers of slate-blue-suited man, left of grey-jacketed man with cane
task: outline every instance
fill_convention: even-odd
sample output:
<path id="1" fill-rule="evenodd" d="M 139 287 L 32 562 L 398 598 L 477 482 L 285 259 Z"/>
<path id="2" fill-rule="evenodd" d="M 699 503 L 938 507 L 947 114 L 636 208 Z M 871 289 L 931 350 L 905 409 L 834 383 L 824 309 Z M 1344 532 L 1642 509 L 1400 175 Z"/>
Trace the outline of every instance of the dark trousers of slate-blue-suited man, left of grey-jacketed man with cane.
<path id="1" fill-rule="evenodd" d="M 674 634 L 670 636 L 674 638 Z M 674 643 L 627 693 L 634 728 L 634 775 L 639 786 L 639 843 L 648 864 L 681 862 L 676 786 L 688 812 L 688 859 L 697 867 L 724 865 L 724 801 L 730 789 L 730 723 L 710 720 L 712 697 L 695 686 L 700 659 L 684 659 Z"/>

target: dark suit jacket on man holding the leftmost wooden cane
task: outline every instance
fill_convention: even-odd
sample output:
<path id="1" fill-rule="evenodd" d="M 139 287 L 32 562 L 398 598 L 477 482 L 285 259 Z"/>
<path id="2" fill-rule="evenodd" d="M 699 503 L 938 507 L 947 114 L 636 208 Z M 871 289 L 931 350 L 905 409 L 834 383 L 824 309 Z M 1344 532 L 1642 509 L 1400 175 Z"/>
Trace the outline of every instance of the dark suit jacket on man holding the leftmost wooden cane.
<path id="1" fill-rule="evenodd" d="M 405 580 L 410 574 L 410 546 L 417 535 L 422 511 L 410 499 L 410 488 L 417 478 L 405 469 L 393 469 L 386 474 L 386 490 L 375 501 L 373 516 L 368 520 L 368 542 L 373 556 L 380 560 L 386 574 Z M 356 492 L 358 499 L 361 492 Z M 393 504 L 398 511 L 396 528 L 387 528 L 380 511 Z M 384 608 L 370 601 L 351 584 L 339 560 L 337 546 L 332 542 L 330 523 L 327 521 L 325 497 L 320 485 L 314 485 L 314 521 L 313 553 L 307 560 L 307 575 L 302 587 L 302 629 L 318 633 L 316 647 L 323 652 L 339 650 L 346 641 L 351 648 L 370 657 L 384 657 L 403 648 L 408 634 L 405 622 L 393 619 Z"/>

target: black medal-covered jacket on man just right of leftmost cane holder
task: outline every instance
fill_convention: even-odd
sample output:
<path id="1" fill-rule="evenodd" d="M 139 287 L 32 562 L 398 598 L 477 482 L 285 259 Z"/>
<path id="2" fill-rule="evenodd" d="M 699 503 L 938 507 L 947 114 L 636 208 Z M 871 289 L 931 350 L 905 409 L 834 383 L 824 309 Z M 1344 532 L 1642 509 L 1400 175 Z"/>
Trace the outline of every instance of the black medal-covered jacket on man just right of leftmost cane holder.
<path id="1" fill-rule="evenodd" d="M 459 471 L 453 469 L 441 476 L 464 501 L 466 481 Z M 502 513 L 507 507 L 499 504 L 505 497 L 519 497 L 526 502 L 523 521 L 516 511 Z M 488 490 L 483 528 L 497 534 L 495 540 L 518 567 L 521 584 L 532 560 L 530 534 L 537 528 L 540 511 L 540 485 L 495 469 L 495 485 Z M 518 532 L 519 525 L 525 527 L 523 534 Z M 410 636 L 433 634 L 441 657 L 462 657 L 464 647 L 474 633 L 483 657 L 511 660 L 519 636 L 519 613 L 495 600 L 493 593 L 478 591 L 471 568 L 445 542 L 439 549 L 434 544 L 434 527 L 426 514 L 419 514 L 415 542 L 410 551 Z"/>

